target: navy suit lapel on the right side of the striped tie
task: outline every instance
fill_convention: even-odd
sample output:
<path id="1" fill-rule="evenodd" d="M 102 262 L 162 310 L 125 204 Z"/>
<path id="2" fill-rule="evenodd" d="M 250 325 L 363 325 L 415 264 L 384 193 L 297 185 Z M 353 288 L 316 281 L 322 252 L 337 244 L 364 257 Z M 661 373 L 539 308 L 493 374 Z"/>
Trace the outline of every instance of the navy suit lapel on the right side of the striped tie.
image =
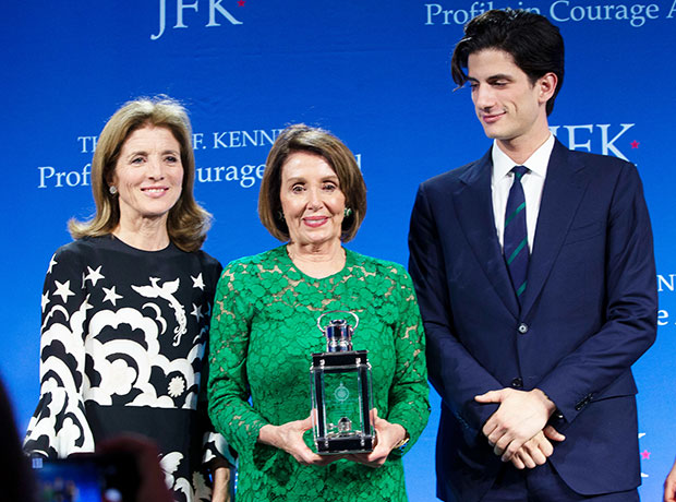
<path id="1" fill-rule="evenodd" d="M 574 162 L 568 148 L 556 141 L 542 191 L 534 247 L 528 265 L 522 318 L 528 315 L 542 291 L 588 182 L 583 164 Z"/>

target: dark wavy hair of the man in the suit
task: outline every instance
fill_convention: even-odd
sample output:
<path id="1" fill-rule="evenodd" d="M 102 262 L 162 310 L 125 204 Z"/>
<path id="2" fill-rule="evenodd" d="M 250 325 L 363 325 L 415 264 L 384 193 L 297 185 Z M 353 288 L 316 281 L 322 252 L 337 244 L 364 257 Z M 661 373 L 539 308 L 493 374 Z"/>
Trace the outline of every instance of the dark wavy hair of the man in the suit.
<path id="1" fill-rule="evenodd" d="M 485 49 L 503 50 L 534 84 L 546 73 L 558 81 L 547 100 L 547 116 L 564 83 L 564 38 L 558 28 L 543 15 L 524 10 L 492 10 L 464 26 L 464 37 L 456 45 L 450 62 L 452 80 L 459 86 L 469 80 L 466 69 L 469 56 Z"/>

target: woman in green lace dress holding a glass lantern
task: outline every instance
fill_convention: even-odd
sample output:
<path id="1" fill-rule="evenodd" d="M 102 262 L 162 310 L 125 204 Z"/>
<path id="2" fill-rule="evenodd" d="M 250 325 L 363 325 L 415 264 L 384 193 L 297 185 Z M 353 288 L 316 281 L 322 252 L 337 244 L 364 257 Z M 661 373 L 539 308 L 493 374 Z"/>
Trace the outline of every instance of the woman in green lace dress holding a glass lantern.
<path id="1" fill-rule="evenodd" d="M 342 247 L 365 211 L 359 166 L 337 138 L 302 124 L 278 136 L 258 213 L 288 242 L 230 263 L 212 316 L 209 415 L 239 453 L 238 502 L 407 500 L 401 456 L 430 414 L 424 333 L 406 271 Z M 309 369 L 330 310 L 357 312 L 354 349 L 369 350 L 369 454 L 312 450 Z"/>

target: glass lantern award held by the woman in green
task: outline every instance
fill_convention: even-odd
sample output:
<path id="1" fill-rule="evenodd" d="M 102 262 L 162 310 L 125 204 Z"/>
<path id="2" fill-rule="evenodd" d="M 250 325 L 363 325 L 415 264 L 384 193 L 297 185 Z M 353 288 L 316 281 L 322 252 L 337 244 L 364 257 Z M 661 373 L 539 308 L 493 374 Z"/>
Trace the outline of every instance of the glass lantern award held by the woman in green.
<path id="1" fill-rule="evenodd" d="M 354 327 L 345 319 L 333 319 L 322 327 L 326 315 L 349 314 Z M 312 355 L 314 442 L 319 455 L 365 453 L 373 451 L 371 423 L 371 364 L 367 350 L 352 350 L 352 334 L 359 325 L 354 312 L 331 310 L 317 320 L 326 336 L 326 352 Z"/>

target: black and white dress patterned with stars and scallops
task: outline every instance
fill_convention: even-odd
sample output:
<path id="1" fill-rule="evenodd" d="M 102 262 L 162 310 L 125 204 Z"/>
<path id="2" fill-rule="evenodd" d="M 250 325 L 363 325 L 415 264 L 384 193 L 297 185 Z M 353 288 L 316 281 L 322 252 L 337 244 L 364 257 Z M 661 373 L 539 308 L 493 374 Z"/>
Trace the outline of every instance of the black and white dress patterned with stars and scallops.
<path id="1" fill-rule="evenodd" d="M 155 440 L 177 501 L 210 500 L 203 462 L 224 447 L 203 402 L 221 265 L 112 236 L 60 248 L 43 290 L 40 399 L 24 450 L 65 457 L 121 432 Z"/>

